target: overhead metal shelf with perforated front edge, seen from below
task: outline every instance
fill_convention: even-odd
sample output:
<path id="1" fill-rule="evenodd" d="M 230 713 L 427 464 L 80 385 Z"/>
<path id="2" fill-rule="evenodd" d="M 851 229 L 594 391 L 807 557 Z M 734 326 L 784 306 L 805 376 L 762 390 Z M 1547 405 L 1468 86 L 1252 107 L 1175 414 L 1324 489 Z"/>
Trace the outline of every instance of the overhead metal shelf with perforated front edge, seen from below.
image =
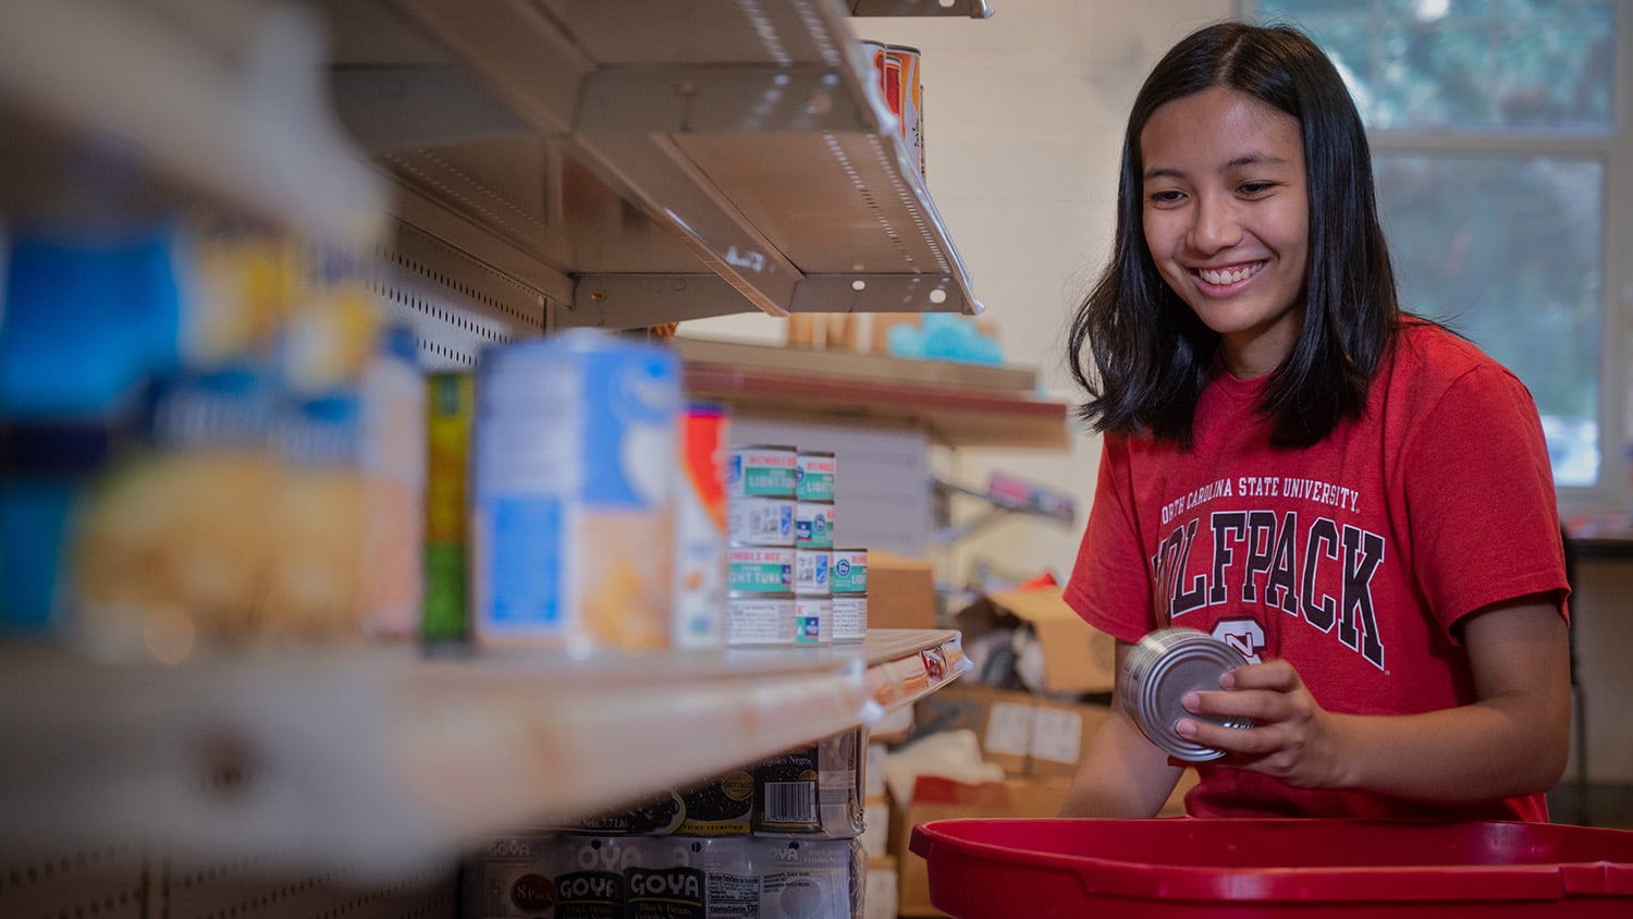
<path id="1" fill-rule="evenodd" d="M 859 8 L 931 7 L 960 8 Z M 836 0 L 325 10 L 398 214 L 536 284 L 555 325 L 983 309 Z"/>

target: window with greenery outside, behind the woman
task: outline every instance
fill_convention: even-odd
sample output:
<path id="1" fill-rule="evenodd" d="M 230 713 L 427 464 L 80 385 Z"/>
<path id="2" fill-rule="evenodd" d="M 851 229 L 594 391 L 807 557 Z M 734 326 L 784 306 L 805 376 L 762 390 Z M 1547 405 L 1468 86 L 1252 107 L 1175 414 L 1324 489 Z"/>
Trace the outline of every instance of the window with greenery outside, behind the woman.
<path id="1" fill-rule="evenodd" d="M 1628 21 L 1617 0 L 1264 0 L 1344 72 L 1403 305 L 1525 380 L 1561 506 L 1628 498 L 1617 295 L 1633 289 Z M 1623 206 L 1617 206 L 1623 202 Z"/>

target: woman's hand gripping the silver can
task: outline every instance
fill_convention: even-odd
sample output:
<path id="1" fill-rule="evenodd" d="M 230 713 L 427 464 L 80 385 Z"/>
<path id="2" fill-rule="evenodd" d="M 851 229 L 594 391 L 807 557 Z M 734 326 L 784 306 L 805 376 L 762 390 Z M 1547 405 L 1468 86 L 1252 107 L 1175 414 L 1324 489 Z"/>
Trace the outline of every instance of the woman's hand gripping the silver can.
<path id="1" fill-rule="evenodd" d="M 1300 788 L 1339 785 L 1333 715 L 1316 704 L 1293 664 L 1272 659 L 1226 673 L 1220 690 L 1187 692 L 1194 715 L 1253 718 L 1253 728 L 1226 728 L 1181 718 L 1179 736 L 1225 751 L 1225 764 L 1274 775 Z"/>

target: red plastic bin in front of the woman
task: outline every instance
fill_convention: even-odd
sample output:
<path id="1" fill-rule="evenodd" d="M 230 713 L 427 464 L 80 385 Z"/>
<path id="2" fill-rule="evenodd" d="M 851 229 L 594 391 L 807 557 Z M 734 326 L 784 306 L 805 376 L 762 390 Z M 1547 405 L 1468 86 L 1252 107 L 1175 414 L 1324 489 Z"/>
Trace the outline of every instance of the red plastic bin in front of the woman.
<path id="1" fill-rule="evenodd" d="M 1633 831 L 1504 821 L 939 819 L 957 919 L 1633 917 Z"/>

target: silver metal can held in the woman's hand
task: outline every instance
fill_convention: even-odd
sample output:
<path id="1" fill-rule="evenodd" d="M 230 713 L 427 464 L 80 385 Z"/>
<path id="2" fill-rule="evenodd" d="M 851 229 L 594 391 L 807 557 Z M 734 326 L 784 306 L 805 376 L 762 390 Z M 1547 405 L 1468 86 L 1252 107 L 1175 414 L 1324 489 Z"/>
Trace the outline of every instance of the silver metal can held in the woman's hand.
<path id="1" fill-rule="evenodd" d="M 1248 663 L 1241 651 L 1197 628 L 1158 628 L 1128 653 L 1124 669 L 1124 710 L 1153 744 L 1176 759 L 1207 762 L 1225 751 L 1189 741 L 1174 731 L 1181 718 L 1226 728 L 1251 728 L 1253 718 L 1212 718 L 1186 712 L 1192 690 L 1213 690 L 1226 671 Z"/>

